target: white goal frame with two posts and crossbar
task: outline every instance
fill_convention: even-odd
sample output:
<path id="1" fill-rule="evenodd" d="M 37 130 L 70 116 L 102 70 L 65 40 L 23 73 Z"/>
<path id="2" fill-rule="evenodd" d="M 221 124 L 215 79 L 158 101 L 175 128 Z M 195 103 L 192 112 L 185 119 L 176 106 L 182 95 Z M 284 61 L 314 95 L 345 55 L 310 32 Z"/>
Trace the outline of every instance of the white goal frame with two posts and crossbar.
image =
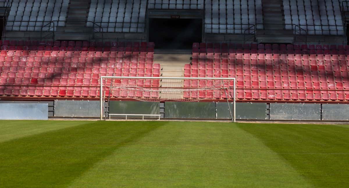
<path id="1" fill-rule="evenodd" d="M 101 76 L 100 79 L 100 89 L 99 89 L 99 98 L 100 98 L 100 106 L 101 106 L 101 120 L 103 120 L 103 108 L 104 108 L 104 100 L 103 100 L 103 79 L 180 79 L 180 80 L 232 80 L 233 81 L 233 115 L 231 115 L 229 99 L 227 97 L 227 103 L 229 107 L 229 113 L 232 116 L 232 122 L 236 122 L 236 78 L 200 78 L 200 77 L 131 77 L 131 76 Z M 107 87 L 107 86 L 105 86 Z M 198 88 L 200 90 L 200 88 Z M 227 96 L 229 96 L 228 94 Z M 136 114 L 134 114 L 136 115 Z"/>

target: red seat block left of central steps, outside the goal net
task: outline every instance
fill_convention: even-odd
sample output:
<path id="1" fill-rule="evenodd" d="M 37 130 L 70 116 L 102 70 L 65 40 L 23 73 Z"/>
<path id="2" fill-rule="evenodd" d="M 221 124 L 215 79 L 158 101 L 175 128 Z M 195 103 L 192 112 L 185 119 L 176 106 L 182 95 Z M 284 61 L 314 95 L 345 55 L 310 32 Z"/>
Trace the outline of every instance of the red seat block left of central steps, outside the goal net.
<path id="1" fill-rule="evenodd" d="M 80 41 L 1 43 L 0 96 L 97 97 L 100 76 L 160 75 L 151 42 L 106 42 L 105 47 Z"/>

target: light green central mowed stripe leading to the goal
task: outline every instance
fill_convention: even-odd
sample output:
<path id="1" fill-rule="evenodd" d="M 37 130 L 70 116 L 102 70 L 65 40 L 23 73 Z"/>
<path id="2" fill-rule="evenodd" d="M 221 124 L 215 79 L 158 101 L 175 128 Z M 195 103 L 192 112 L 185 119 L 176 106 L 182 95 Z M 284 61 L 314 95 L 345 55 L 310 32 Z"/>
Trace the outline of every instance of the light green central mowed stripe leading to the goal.
<path id="1" fill-rule="evenodd" d="M 235 124 L 169 122 L 118 148 L 70 187 L 311 186 Z"/>

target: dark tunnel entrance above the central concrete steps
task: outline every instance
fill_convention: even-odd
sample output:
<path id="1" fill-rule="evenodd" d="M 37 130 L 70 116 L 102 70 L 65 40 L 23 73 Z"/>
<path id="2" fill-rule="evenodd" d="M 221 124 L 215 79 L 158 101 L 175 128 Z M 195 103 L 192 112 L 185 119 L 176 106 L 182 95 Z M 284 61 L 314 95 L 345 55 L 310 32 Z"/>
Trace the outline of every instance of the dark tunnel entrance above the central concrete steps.
<path id="1" fill-rule="evenodd" d="M 201 36 L 202 19 L 149 19 L 149 41 L 157 49 L 191 49 Z"/>

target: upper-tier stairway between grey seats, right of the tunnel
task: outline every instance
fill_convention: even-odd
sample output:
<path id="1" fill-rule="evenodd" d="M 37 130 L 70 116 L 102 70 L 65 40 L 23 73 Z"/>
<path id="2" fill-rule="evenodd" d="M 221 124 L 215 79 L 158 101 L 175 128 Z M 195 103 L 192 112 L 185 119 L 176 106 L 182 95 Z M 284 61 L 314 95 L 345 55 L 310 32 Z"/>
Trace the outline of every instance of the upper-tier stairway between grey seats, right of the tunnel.
<path id="1" fill-rule="evenodd" d="M 258 42 L 293 42 L 293 32 L 285 30 L 283 0 L 262 0 L 263 30 L 257 30 Z M 277 37 L 275 37 L 277 35 Z"/>

